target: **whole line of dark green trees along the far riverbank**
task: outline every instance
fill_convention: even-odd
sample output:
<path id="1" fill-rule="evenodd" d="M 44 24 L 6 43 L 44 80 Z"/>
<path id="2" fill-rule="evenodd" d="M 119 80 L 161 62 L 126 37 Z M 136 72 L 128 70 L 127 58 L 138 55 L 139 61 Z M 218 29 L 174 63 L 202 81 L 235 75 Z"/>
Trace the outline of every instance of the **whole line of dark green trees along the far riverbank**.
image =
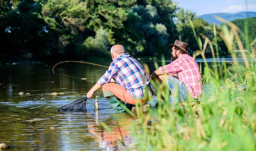
<path id="1" fill-rule="evenodd" d="M 211 24 L 172 0 L 0 0 L 0 56 L 86 60 L 105 57 L 114 44 L 131 55 L 170 56 L 175 39 L 193 52 L 199 48 L 188 17 L 202 41 L 214 38 Z M 217 42 L 228 55 L 218 35 Z"/>

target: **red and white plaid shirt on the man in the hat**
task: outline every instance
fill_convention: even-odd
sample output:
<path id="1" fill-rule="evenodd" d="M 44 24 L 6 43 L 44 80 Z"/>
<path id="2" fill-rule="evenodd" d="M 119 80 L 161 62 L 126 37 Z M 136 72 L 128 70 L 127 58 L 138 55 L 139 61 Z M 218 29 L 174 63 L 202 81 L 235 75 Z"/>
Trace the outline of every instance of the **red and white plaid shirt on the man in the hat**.
<path id="1" fill-rule="evenodd" d="M 162 74 L 176 74 L 178 79 L 184 82 L 188 93 L 198 99 L 202 93 L 202 82 L 199 65 L 195 60 L 187 54 L 181 55 L 175 61 L 163 67 L 159 67 Z"/>

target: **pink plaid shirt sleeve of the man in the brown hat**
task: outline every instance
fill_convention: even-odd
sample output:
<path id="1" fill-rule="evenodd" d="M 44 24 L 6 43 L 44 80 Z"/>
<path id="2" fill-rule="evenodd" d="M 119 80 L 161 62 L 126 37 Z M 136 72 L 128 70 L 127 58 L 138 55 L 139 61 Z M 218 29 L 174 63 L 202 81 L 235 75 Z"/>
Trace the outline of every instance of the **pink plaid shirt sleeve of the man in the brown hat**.
<path id="1" fill-rule="evenodd" d="M 179 72 L 182 70 L 181 59 L 176 59 L 175 61 L 171 62 L 170 64 L 167 64 L 163 67 L 159 67 L 159 70 L 160 70 L 161 74 L 164 74 L 164 73 L 176 74 L 176 72 Z"/>

